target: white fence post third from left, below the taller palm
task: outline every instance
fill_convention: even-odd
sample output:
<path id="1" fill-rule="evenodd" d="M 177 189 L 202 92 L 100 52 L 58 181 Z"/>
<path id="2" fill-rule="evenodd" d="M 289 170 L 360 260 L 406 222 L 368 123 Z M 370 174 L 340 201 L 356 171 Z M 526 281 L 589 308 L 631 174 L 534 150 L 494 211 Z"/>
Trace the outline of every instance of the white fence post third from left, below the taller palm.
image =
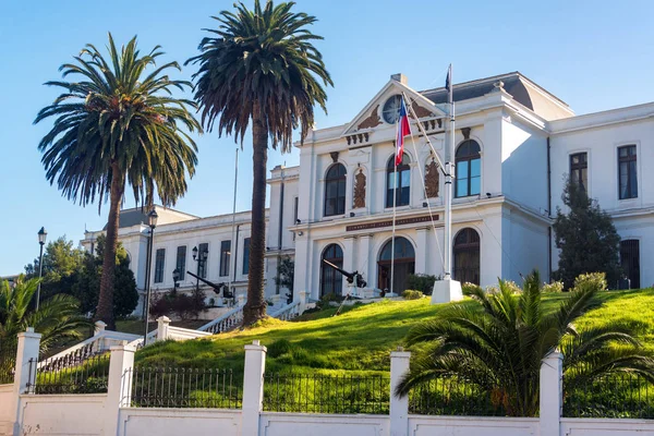
<path id="1" fill-rule="evenodd" d="M 245 346 L 245 371 L 243 374 L 243 407 L 241 410 L 241 435 L 258 436 L 259 413 L 264 401 L 264 371 L 266 347 L 258 340 Z"/>

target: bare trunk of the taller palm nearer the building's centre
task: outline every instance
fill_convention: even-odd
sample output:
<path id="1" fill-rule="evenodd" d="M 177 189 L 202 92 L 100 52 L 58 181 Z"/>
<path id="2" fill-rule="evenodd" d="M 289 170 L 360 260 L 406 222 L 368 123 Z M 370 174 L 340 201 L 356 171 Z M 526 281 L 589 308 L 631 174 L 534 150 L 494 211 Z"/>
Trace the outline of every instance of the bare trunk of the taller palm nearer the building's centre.
<path id="1" fill-rule="evenodd" d="M 250 271 L 247 302 L 243 307 L 243 325 L 249 326 L 266 316 L 264 298 L 264 256 L 266 246 L 266 165 L 268 132 L 258 104 L 252 110 L 252 232 L 250 237 Z"/>

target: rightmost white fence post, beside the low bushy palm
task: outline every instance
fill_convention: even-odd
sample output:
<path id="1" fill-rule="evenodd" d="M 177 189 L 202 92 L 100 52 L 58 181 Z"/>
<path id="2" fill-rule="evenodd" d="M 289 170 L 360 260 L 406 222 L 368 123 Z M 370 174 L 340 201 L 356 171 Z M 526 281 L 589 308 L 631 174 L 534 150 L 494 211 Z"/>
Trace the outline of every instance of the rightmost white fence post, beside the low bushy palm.
<path id="1" fill-rule="evenodd" d="M 560 436 L 564 355 L 553 351 L 541 363 L 541 436 Z"/>

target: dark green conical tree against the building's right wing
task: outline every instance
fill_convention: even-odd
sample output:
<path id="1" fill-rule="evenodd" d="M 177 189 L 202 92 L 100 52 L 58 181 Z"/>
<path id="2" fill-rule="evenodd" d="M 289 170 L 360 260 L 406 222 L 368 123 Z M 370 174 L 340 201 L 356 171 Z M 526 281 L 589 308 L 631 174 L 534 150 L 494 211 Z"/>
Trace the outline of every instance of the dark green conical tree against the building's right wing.
<path id="1" fill-rule="evenodd" d="M 610 217 L 573 181 L 567 181 L 561 198 L 569 211 L 556 211 L 553 229 L 560 254 L 553 276 L 570 289 L 582 274 L 605 272 L 609 287 L 616 287 L 621 272 L 620 237 Z"/>

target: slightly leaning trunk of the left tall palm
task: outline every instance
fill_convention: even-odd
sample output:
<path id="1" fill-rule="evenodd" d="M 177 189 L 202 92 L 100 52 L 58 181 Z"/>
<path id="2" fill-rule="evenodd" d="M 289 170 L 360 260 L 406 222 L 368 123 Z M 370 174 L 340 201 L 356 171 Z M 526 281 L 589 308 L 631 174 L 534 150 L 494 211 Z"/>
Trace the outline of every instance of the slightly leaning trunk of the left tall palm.
<path id="1" fill-rule="evenodd" d="M 107 218 L 107 240 L 102 258 L 102 276 L 100 278 L 100 296 L 96 310 L 96 320 L 107 324 L 108 330 L 114 330 L 113 319 L 113 281 L 116 275 L 116 246 L 118 244 L 118 227 L 120 221 L 120 202 L 124 191 L 124 178 L 118 165 L 111 166 L 111 193 L 109 197 L 109 217 Z"/>

